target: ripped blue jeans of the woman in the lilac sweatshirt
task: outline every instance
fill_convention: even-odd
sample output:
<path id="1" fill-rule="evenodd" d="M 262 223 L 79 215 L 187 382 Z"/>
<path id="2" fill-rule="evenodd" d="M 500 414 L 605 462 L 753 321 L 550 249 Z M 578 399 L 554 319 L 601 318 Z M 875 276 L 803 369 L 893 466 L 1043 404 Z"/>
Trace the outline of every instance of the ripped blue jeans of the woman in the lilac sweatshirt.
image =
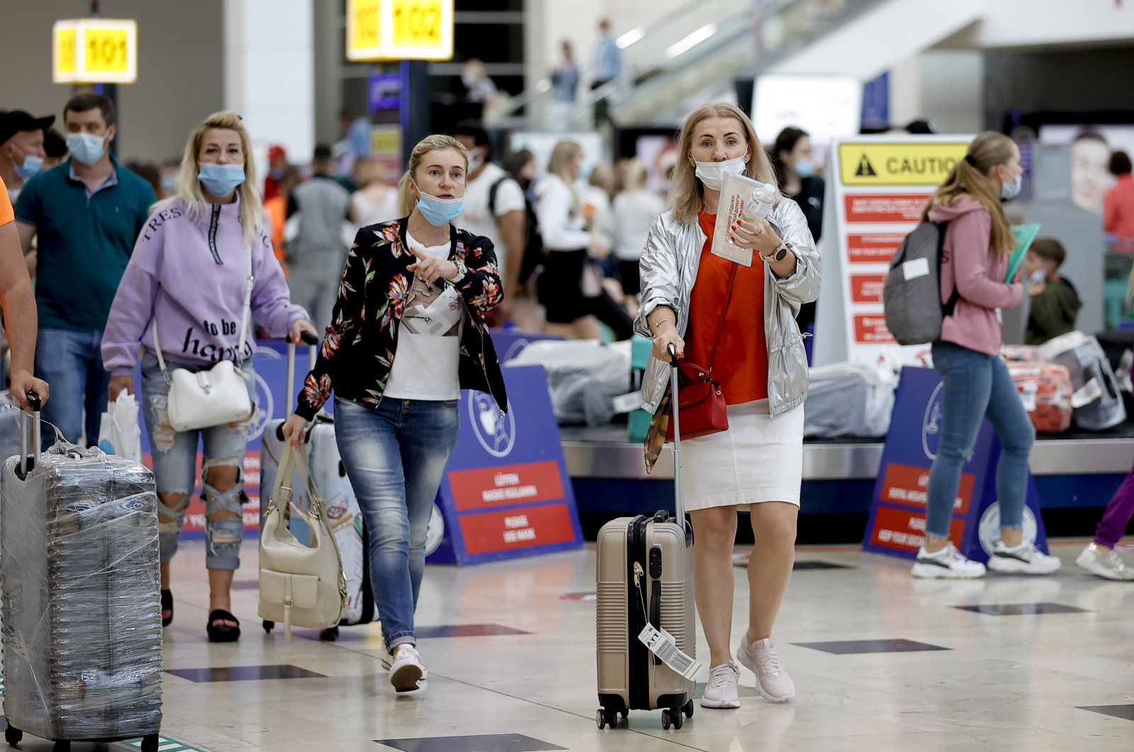
<path id="1" fill-rule="evenodd" d="M 166 367 L 201 370 L 202 366 L 185 366 L 167 362 Z M 245 361 L 243 370 L 249 375 L 252 364 Z M 248 391 L 255 399 L 255 379 L 248 379 Z M 205 566 L 210 570 L 237 570 L 240 567 L 240 541 L 244 538 L 244 451 L 248 443 L 251 420 L 202 428 L 200 430 L 175 431 L 166 412 L 169 385 L 158 367 L 158 358 L 146 351 L 142 358 L 142 413 L 150 452 L 153 456 L 153 473 L 158 485 L 158 540 L 161 561 L 168 562 L 177 553 L 177 542 L 185 527 L 185 512 L 189 507 L 195 486 L 197 465 L 197 442 L 204 444 L 204 461 L 201 468 L 202 496 L 205 502 L 205 538 L 208 550 Z M 249 416 L 251 418 L 251 416 Z M 230 488 L 218 490 L 209 482 L 210 470 L 236 469 L 236 482 Z M 218 484 L 220 485 L 220 484 Z M 223 484 L 228 485 L 228 484 Z M 167 505 L 169 496 L 175 498 Z"/>

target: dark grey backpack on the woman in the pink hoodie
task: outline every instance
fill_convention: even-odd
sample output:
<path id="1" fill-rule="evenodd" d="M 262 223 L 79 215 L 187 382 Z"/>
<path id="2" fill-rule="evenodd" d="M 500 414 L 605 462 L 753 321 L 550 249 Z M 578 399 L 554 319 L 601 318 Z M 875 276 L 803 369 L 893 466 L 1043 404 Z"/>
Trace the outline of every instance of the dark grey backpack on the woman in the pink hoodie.
<path id="1" fill-rule="evenodd" d="M 898 344 L 940 340 L 941 323 L 957 307 L 960 293 L 956 284 L 948 302 L 941 302 L 941 256 L 947 225 L 948 222 L 922 222 L 906 236 L 890 260 L 882 306 L 886 327 Z"/>

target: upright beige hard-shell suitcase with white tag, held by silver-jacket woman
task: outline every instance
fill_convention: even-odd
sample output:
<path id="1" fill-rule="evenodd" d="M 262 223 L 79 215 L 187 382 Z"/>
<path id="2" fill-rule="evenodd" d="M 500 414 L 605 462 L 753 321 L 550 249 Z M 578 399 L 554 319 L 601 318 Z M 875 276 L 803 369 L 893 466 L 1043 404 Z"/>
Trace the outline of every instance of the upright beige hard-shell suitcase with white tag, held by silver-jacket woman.
<path id="1" fill-rule="evenodd" d="M 682 487 L 682 435 L 677 416 L 677 366 L 674 390 L 674 469 L 676 515 L 619 518 L 602 525 L 596 564 L 596 663 L 599 728 L 618 725 L 631 710 L 662 710 L 661 724 L 680 728 L 693 717 L 694 681 L 659 656 L 676 658 L 692 669 L 696 657 L 693 599 L 693 530 L 685 523 Z M 672 643 L 651 652 L 638 638 L 653 627 L 672 635 Z M 684 653 L 684 655 L 682 655 Z M 684 713 L 684 716 L 683 716 Z"/>

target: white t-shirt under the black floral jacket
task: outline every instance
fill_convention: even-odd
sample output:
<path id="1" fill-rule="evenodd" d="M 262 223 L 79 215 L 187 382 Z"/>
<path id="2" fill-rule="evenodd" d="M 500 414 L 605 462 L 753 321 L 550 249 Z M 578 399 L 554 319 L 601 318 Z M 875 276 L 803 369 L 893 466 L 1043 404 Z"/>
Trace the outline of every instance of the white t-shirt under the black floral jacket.
<path id="1" fill-rule="evenodd" d="M 406 241 L 428 256 L 449 257 L 449 243 L 423 246 L 408 232 Z M 441 284 L 414 277 L 398 324 L 393 367 L 382 396 L 433 401 L 460 396 L 457 369 L 465 302 L 451 284 Z"/>

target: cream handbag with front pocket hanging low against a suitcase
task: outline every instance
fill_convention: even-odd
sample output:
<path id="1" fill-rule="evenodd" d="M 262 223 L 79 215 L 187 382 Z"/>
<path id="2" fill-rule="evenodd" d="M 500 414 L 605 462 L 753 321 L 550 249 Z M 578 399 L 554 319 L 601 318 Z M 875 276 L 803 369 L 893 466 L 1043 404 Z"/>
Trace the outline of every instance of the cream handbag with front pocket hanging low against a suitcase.
<path id="1" fill-rule="evenodd" d="M 307 489 L 311 512 L 291 504 L 290 484 L 296 475 Z M 307 523 L 307 545 L 287 529 L 289 505 L 291 519 L 303 518 Z M 290 642 L 293 625 L 313 630 L 337 626 L 346 604 L 342 559 L 312 482 L 307 455 L 287 444 L 260 533 L 260 617 L 284 624 L 284 635 Z"/>

